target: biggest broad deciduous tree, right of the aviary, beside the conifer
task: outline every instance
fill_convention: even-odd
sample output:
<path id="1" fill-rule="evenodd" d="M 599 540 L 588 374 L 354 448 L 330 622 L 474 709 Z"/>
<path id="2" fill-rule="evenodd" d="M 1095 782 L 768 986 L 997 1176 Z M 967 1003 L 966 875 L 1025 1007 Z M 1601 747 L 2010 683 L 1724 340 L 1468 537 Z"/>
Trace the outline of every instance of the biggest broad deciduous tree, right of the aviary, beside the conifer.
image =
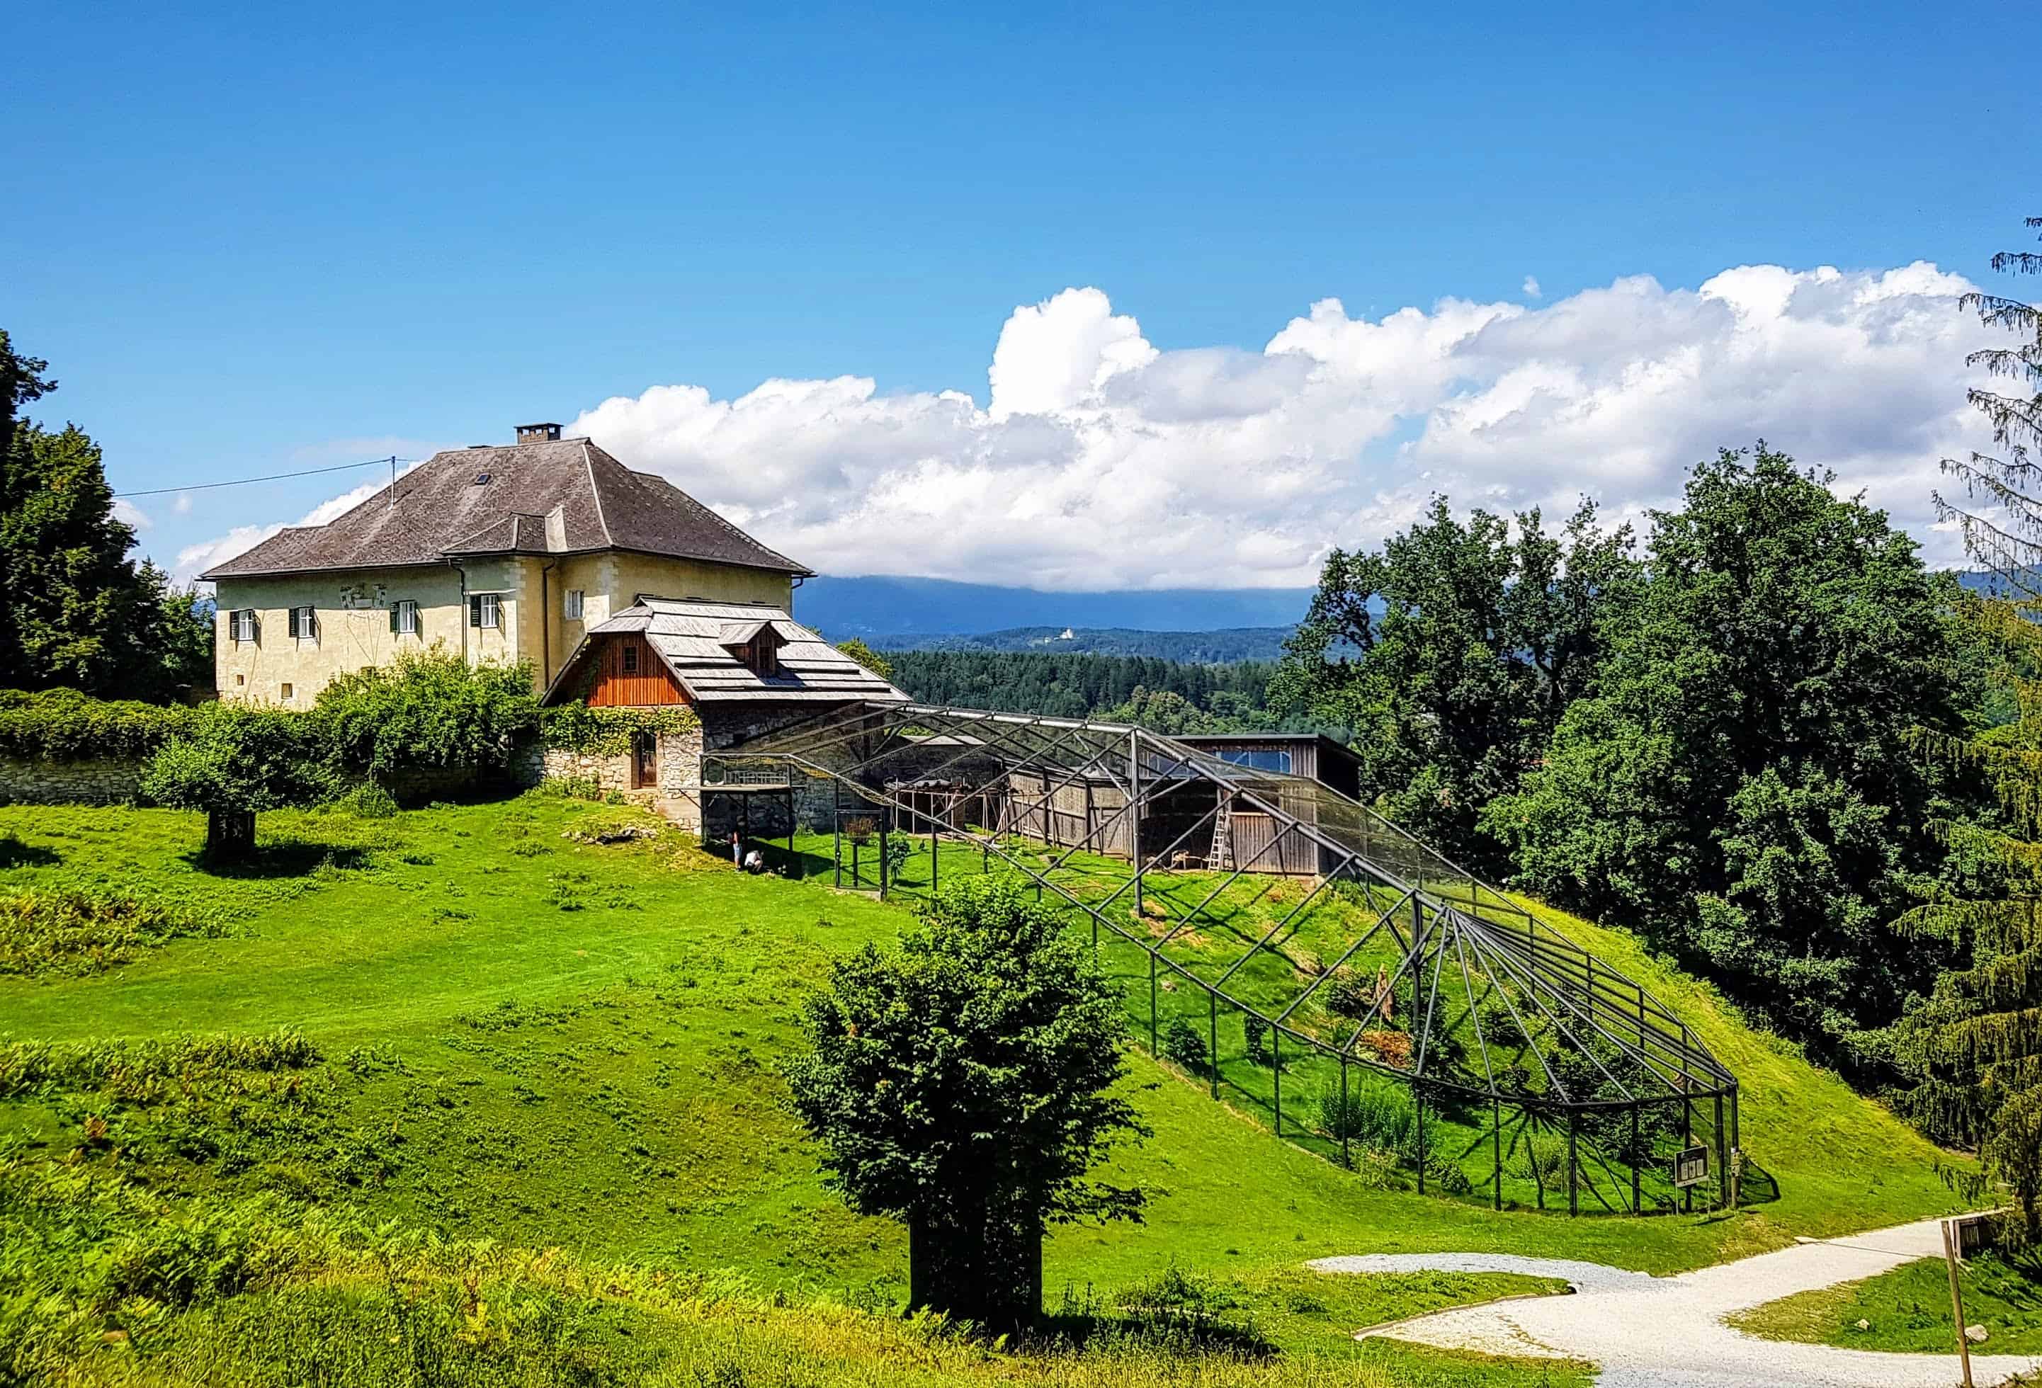
<path id="1" fill-rule="evenodd" d="M 1838 1063 L 1940 955 L 1883 929 L 1940 870 L 1938 776 L 1909 729 L 1962 729 L 1954 584 L 1826 474 L 1760 445 L 1656 512 L 1591 692 L 1485 812 L 1542 896 L 1644 929 Z"/>

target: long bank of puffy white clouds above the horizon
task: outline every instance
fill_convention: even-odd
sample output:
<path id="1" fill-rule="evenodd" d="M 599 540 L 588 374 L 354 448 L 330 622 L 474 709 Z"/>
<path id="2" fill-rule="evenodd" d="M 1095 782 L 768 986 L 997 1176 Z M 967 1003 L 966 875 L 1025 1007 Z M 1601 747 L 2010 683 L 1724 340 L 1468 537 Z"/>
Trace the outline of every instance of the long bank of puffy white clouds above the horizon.
<path id="1" fill-rule="evenodd" d="M 676 384 L 604 400 L 570 433 L 827 574 L 1301 586 L 1329 547 L 1376 543 L 1433 492 L 1548 514 L 1589 494 L 1640 518 L 1697 459 L 1758 437 L 1834 467 L 1950 563 L 1930 490 L 1936 459 L 1979 441 L 1962 365 L 1979 327 L 1954 302 L 1968 288 L 1930 263 L 1744 265 L 1695 290 L 1630 278 L 1380 318 L 1327 298 L 1262 351 L 1158 351 L 1105 292 L 1070 288 L 1007 318 L 984 406 L 858 376 L 735 400 Z"/>

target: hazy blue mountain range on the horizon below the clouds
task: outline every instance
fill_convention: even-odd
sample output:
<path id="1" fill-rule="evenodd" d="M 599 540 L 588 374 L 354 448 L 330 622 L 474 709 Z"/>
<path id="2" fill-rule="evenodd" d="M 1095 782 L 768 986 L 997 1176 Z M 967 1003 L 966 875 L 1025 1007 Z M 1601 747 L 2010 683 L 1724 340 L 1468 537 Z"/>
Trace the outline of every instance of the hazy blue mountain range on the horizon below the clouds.
<path id="1" fill-rule="evenodd" d="M 994 584 L 956 584 L 941 578 L 811 578 L 794 594 L 794 616 L 833 641 L 862 637 L 892 649 L 925 645 L 937 637 L 968 637 L 1066 627 L 1086 637 L 1172 633 L 1211 637 L 1242 629 L 1289 629 L 1311 606 L 1311 588 L 1156 588 L 1141 592 L 1039 592 Z M 988 637 L 990 639 L 990 637 Z M 1027 637 L 1023 637 L 1025 641 Z M 1280 637 L 1278 637 L 1280 641 Z M 1107 647 L 982 647 L 982 649 L 1086 649 Z M 1150 655 L 1160 651 L 1119 651 Z M 1199 657 L 1182 657 L 1199 659 Z M 1229 659 L 1248 659 L 1246 655 Z"/>

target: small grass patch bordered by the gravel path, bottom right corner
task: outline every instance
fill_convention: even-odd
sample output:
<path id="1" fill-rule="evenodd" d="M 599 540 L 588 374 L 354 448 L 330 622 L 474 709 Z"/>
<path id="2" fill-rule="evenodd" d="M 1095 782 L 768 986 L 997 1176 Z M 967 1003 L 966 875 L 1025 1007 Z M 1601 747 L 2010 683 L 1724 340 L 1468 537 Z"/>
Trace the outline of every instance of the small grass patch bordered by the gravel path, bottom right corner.
<path id="1" fill-rule="evenodd" d="M 1983 1325 L 1977 1353 L 2042 1353 L 2042 1284 L 1991 1253 L 1958 1274 L 1964 1321 Z M 1862 1323 L 1862 1327 L 1860 1327 Z M 1879 1278 L 1801 1292 L 1748 1310 L 1734 1321 L 1764 1339 L 1848 1349 L 1952 1353 L 1950 1272 L 1940 1257 L 1895 1268 Z"/>

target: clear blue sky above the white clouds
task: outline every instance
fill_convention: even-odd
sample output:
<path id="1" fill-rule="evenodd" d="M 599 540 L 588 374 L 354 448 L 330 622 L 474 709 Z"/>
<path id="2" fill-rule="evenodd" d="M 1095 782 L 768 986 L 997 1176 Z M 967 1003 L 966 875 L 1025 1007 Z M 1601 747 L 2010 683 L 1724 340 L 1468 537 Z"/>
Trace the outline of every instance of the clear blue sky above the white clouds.
<path id="1" fill-rule="evenodd" d="M 1983 278 L 2042 210 L 2024 94 L 1968 71 L 2001 12 L 1656 10 L 41 6 L 0 96 L 0 325 L 63 382 L 43 414 L 147 488 L 672 384 L 986 406 L 1009 314 L 1068 286 L 1168 363 L 1260 353 L 1325 298 L 1380 320 L 1748 263 Z M 1380 490 L 1429 408 L 1333 461 Z M 713 467 L 651 461 L 772 529 Z M 145 545 L 337 490 L 149 506 Z"/>

